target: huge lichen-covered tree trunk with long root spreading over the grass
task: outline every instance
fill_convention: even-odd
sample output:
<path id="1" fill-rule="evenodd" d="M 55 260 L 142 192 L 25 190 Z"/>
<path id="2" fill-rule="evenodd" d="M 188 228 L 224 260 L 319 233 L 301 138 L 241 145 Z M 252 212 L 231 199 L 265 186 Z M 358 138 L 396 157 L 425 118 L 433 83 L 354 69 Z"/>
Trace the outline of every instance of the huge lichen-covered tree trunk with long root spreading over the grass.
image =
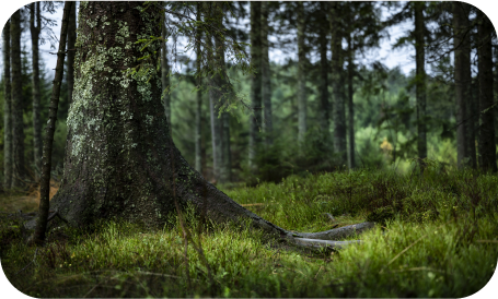
<path id="1" fill-rule="evenodd" d="M 160 10 L 150 4 L 141 12 L 137 7 L 143 8 L 144 0 L 96 1 L 80 8 L 80 20 L 89 22 L 79 24 L 65 172 L 51 211 L 71 226 L 120 218 L 164 227 L 175 203 L 192 204 L 197 213 L 206 208 L 213 222 L 250 225 L 301 243 L 372 227 L 364 223 L 315 234 L 291 232 L 245 210 L 193 169 L 174 145 L 162 109 L 157 69 L 161 45 L 152 43 L 143 51 L 143 45 L 135 45 L 138 38 L 159 36 Z M 106 38 L 99 40 L 103 32 Z M 135 59 L 147 55 L 148 59 Z"/>

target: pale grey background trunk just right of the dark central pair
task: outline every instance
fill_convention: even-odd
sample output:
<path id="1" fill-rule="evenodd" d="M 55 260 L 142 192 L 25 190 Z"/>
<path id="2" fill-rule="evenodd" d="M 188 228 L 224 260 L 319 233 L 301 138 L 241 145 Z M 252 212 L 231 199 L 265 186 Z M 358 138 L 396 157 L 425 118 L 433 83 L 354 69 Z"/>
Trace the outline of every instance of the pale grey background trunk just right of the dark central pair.
<path id="1" fill-rule="evenodd" d="M 304 142 L 306 133 L 306 52 L 304 50 L 304 4 L 298 0 L 298 142 Z"/>

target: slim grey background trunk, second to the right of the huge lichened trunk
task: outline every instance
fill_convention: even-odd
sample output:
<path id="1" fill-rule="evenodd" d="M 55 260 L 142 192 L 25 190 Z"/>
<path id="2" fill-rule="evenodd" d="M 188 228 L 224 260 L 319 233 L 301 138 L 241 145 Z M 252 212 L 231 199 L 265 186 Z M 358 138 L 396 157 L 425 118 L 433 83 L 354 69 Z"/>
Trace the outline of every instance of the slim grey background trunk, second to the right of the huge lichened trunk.
<path id="1" fill-rule="evenodd" d="M 201 8 L 202 4 L 199 0 L 197 0 L 197 12 L 196 12 L 196 21 L 201 21 Z M 200 27 L 196 28 L 196 68 L 197 68 L 197 94 L 196 94 L 196 132 L 195 132 L 195 143 L 196 143 L 196 165 L 195 168 L 199 174 L 202 174 L 202 156 L 201 156 L 201 128 L 202 128 L 202 115 L 201 115 L 201 107 L 202 107 L 202 92 L 200 91 L 202 79 L 200 76 L 200 68 L 201 68 L 201 49 L 200 49 L 200 38 L 202 36 L 202 32 Z"/>

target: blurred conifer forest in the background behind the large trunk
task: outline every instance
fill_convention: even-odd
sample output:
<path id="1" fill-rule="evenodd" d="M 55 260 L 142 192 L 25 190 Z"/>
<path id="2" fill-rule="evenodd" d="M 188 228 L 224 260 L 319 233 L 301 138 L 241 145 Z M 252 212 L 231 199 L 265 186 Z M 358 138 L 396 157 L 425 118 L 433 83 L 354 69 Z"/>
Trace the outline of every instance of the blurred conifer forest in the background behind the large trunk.
<path id="1" fill-rule="evenodd" d="M 478 8 L 461 1 L 418 0 L 264 0 L 205 4 L 213 9 L 216 3 L 223 15 L 221 24 L 228 29 L 225 37 L 253 46 L 245 46 L 244 50 L 250 53 L 255 73 L 232 69 L 229 40 L 223 41 L 219 36 L 208 38 L 201 31 L 196 35 L 195 27 L 182 27 L 187 19 L 175 14 L 170 15 L 164 27 L 167 41 L 162 60 L 167 62 L 162 65 L 162 84 L 167 86 L 163 96 L 170 103 L 166 111 L 171 113 L 173 139 L 184 157 L 209 180 L 279 181 L 291 174 L 333 170 L 343 165 L 384 167 L 394 163 L 397 169 L 406 171 L 408 159 L 415 156 L 495 171 L 496 88 L 483 86 L 493 86 L 496 80 L 496 29 L 483 21 L 488 19 Z M 4 189 L 10 188 L 12 177 L 34 181 L 35 169 L 39 168 L 37 132 L 47 120 L 51 79 L 47 76 L 45 62 L 36 58 L 35 46 L 43 41 L 45 29 L 38 33 L 42 39 L 36 41 L 36 36 L 38 22 L 45 28 L 50 5 L 58 4 L 42 1 L 40 17 L 36 3 L 20 10 L 19 32 L 27 37 L 25 33 L 30 28 L 33 38 L 25 50 L 24 41 L 15 46 L 16 40 L 24 40 L 15 37 L 19 36 L 15 14 L 9 25 L 12 31 L 8 31 L 12 45 L 5 41 L 7 27 L 2 29 L 3 43 L 9 44 L 2 45 L 7 60 L 2 65 L 0 94 L 4 117 L 0 153 Z M 194 2 L 165 1 L 164 5 L 188 8 L 193 20 L 202 9 Z M 386 19 L 386 10 L 382 11 L 381 5 L 393 10 L 397 5 L 398 11 Z M 385 22 L 381 22 L 382 13 Z M 405 74 L 379 62 L 364 61 L 363 53 L 402 20 L 412 20 L 413 27 L 394 46 L 416 56 L 416 71 Z M 76 31 L 70 27 L 69 32 L 72 35 L 68 36 L 67 76 L 62 82 L 54 145 L 54 165 L 59 168 L 73 85 L 71 39 Z M 194 36 L 198 43 L 193 50 L 198 53 L 187 61 L 188 56 L 178 49 L 185 45 L 185 38 Z M 225 112 L 229 105 L 223 106 L 219 101 L 221 96 L 212 94 L 215 131 L 207 125 L 211 118 L 207 91 L 209 85 L 225 85 L 227 77 L 212 76 L 209 79 L 212 84 L 200 76 L 194 77 L 208 70 L 208 39 L 213 49 L 210 59 L 225 67 L 227 82 L 231 84 L 228 86 L 232 86 L 221 94 L 231 94 L 229 103 L 236 103 L 236 109 L 232 106 Z M 279 64 L 271 62 L 270 53 L 276 50 L 289 59 Z M 200 88 L 192 93 L 195 86 Z M 220 134 L 218 139 L 217 134 Z M 9 150 L 11 140 L 16 145 Z M 212 141 L 218 147 L 212 146 Z M 217 155 L 219 162 L 215 165 Z M 9 167 L 9 162 L 15 167 Z M 20 187 L 22 181 L 12 182 Z"/>

